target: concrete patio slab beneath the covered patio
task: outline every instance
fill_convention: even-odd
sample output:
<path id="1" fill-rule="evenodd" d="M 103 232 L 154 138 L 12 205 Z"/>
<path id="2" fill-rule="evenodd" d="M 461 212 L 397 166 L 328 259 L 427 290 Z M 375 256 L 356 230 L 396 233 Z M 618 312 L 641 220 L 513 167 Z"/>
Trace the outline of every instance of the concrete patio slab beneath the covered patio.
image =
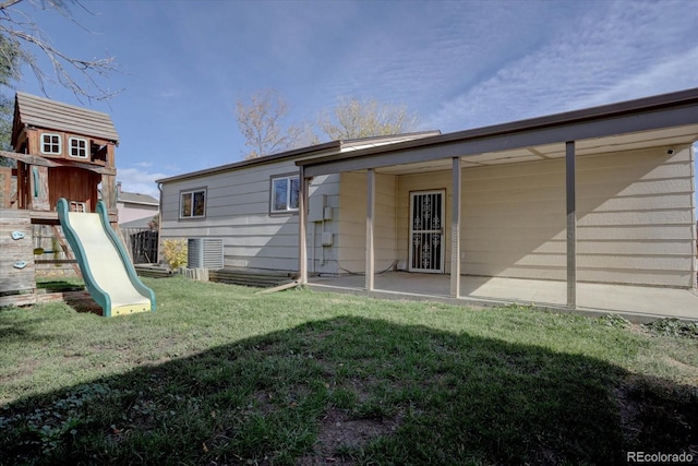
<path id="1" fill-rule="evenodd" d="M 462 276 L 460 298 L 449 297 L 450 277 L 436 274 L 388 272 L 375 275 L 371 296 L 390 299 L 437 300 L 460 304 L 530 304 L 568 311 L 565 282 Z M 365 294 L 363 275 L 310 279 L 313 289 Z M 577 284 L 577 312 L 618 313 L 635 322 L 660 318 L 698 321 L 698 294 L 695 290 L 626 285 Z"/>

